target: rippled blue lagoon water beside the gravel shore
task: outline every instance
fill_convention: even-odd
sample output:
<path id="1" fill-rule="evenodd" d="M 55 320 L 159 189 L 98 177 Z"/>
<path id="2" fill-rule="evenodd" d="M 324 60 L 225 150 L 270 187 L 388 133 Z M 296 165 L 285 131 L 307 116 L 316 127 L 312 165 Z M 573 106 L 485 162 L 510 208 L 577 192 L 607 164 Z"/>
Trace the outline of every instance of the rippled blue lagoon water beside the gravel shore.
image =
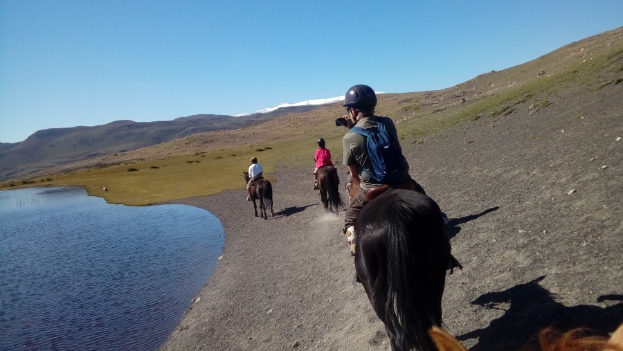
<path id="1" fill-rule="evenodd" d="M 219 220 L 192 206 L 1 191 L 0 350 L 154 350 L 223 244 Z"/>

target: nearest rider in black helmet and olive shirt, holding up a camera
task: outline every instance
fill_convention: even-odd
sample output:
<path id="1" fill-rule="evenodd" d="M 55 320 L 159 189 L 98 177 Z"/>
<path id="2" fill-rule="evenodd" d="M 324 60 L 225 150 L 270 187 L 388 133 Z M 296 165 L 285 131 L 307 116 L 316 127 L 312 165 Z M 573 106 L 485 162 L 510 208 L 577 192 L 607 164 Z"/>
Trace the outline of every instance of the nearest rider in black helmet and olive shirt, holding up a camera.
<path id="1" fill-rule="evenodd" d="M 374 116 L 374 107 L 377 106 L 377 94 L 374 93 L 371 87 L 358 84 L 348 89 L 343 106 L 346 107 L 347 114 L 343 118 L 346 120 L 346 127 L 348 129 L 357 126 L 363 129 L 370 129 L 370 132 L 379 130 L 378 123 L 381 117 Z M 387 131 L 394 139 L 399 152 L 402 154 L 396 126 L 390 118 L 383 117 L 382 119 Z M 370 161 L 370 155 L 368 154 L 365 136 L 355 132 L 347 132 L 342 139 L 342 144 L 344 147 L 343 162 L 348 166 L 352 177 L 352 184 L 356 188 L 350 200 L 349 207 L 346 209 L 343 228 L 343 232 L 349 237 L 349 242 L 352 242 L 354 240 L 353 225 L 355 219 L 361 208 L 368 203 L 365 197 L 366 192 L 372 188 L 382 186 L 383 183 L 379 183 L 370 177 L 370 174 L 373 173 L 372 161 Z M 395 183 L 404 183 L 410 180 L 408 163 L 402 155 L 401 159 L 403 162 L 402 170 L 398 177 L 394 179 Z M 359 184 L 359 186 L 357 186 L 357 184 Z M 351 250 L 354 250 L 354 246 L 351 246 Z"/>

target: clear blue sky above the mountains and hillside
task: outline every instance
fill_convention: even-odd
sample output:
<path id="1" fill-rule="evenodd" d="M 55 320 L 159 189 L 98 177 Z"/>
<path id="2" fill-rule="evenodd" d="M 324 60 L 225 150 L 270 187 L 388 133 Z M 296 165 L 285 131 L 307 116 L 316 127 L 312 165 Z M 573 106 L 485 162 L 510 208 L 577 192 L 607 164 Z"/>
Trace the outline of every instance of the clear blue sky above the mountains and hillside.
<path id="1" fill-rule="evenodd" d="M 621 0 L 0 0 L 0 142 L 443 89 L 620 26 Z"/>

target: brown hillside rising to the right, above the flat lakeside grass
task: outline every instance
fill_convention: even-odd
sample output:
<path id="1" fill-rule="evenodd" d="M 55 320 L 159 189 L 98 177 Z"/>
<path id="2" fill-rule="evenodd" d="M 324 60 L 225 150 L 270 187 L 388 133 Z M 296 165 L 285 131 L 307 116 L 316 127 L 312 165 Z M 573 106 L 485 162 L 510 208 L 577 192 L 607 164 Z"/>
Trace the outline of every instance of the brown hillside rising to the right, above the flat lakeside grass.
<path id="1" fill-rule="evenodd" d="M 573 100 L 574 93 L 599 96 L 605 87 L 620 90 L 622 52 L 623 28 L 618 28 L 568 44 L 525 64 L 478 75 L 455 87 L 380 95 L 377 114 L 390 116 L 397 123 L 402 123 L 399 132 L 408 142 L 421 142 L 422 138 L 438 135 L 451 125 L 467 120 L 513 116 L 519 105 L 527 104 L 526 108 L 534 114 L 549 107 L 552 98 L 557 96 L 566 95 Z M 565 107 L 571 109 L 572 105 Z M 249 127 L 203 132 L 139 150 L 95 157 L 52 168 L 37 176 L 241 145 L 307 142 L 316 136 L 323 136 L 329 145 L 336 145 L 341 140 L 343 129 L 334 127 L 333 120 L 342 115 L 341 104 L 325 105 Z M 295 164 L 299 162 L 291 161 Z"/>

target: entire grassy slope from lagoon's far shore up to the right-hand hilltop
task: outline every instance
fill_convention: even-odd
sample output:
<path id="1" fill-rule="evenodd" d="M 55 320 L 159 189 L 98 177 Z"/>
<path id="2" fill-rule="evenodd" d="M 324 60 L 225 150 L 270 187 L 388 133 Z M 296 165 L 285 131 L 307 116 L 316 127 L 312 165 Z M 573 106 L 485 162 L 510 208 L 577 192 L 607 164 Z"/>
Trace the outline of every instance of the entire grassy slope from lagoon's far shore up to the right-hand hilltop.
<path id="1" fill-rule="evenodd" d="M 541 71 L 545 74 L 539 75 Z M 422 143 L 457 123 L 507 116 L 524 103 L 538 111 L 548 107 L 552 95 L 578 87 L 591 93 L 608 84 L 618 85 L 622 78 L 623 28 L 618 28 L 442 91 L 383 94 L 377 114 L 397 120 L 402 143 Z M 325 138 L 334 161 L 341 160 L 345 129 L 335 127 L 333 121 L 342 114 L 341 105 L 334 104 L 249 128 L 195 134 L 105 157 L 81 170 L 4 183 L 0 190 L 73 185 L 84 186 L 90 195 L 111 203 L 154 204 L 243 188 L 242 170 L 253 155 L 258 156 L 269 179 L 276 168 L 294 167 L 309 168 L 311 177 L 318 137 Z M 131 168 L 136 171 L 129 171 Z M 103 185 L 110 191 L 104 192 Z"/>

